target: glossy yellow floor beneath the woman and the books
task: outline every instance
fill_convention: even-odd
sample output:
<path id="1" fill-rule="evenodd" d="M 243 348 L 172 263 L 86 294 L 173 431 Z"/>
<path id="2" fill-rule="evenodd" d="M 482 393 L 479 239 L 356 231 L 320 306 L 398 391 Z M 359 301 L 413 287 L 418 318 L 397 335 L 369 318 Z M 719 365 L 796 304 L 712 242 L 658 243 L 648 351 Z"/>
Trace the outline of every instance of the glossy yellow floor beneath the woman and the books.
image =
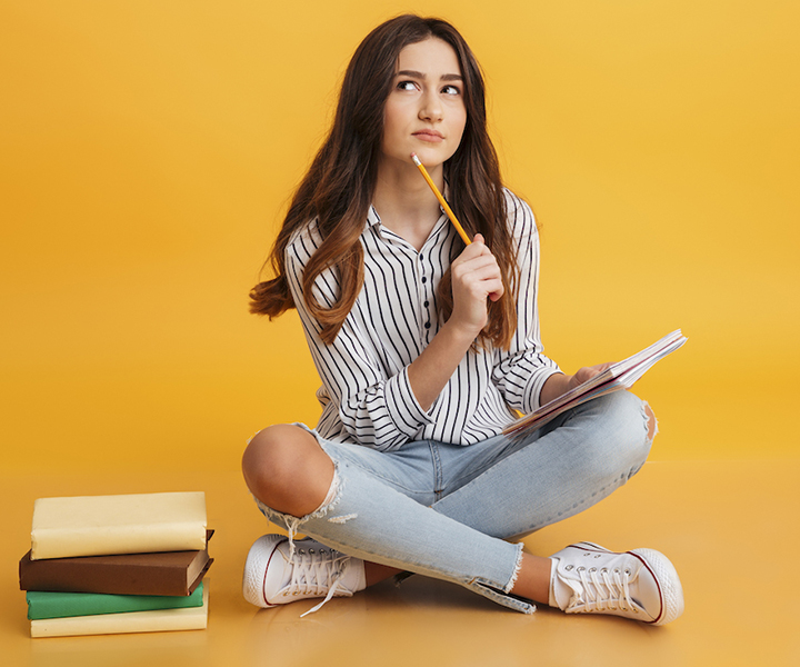
<path id="1" fill-rule="evenodd" d="M 603 504 L 526 540 L 537 554 L 588 539 L 648 546 L 676 564 L 686 614 L 662 628 L 609 617 L 524 616 L 458 586 L 412 577 L 331 600 L 257 610 L 241 567 L 264 520 L 234 472 L 0 478 L 0 645 L 4 665 L 800 665 L 800 461 L 654 461 Z M 204 631 L 30 639 L 17 561 L 39 496 L 207 492 L 211 541 Z"/>

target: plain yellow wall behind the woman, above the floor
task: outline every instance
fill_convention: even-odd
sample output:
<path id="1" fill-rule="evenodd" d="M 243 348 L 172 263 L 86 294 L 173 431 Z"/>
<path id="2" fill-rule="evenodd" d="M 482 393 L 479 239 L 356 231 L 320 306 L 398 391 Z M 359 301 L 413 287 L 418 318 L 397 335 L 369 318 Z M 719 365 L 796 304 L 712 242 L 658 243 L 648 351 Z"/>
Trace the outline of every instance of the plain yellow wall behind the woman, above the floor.
<path id="1" fill-rule="evenodd" d="M 796 457 L 791 1 L 0 4 L 0 441 L 11 472 L 238 469 L 314 422 L 294 313 L 247 312 L 352 50 L 404 10 L 483 64 L 568 371 L 681 327 L 658 458 Z"/>

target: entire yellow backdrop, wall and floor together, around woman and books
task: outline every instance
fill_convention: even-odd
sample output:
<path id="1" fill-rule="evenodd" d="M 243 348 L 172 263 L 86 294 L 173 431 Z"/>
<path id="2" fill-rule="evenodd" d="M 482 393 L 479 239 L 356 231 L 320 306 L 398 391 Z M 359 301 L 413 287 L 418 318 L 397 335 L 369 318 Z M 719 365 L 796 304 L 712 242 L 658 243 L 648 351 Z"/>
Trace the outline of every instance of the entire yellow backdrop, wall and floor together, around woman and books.
<path id="1" fill-rule="evenodd" d="M 297 317 L 250 316 L 247 292 L 350 54 L 406 10 L 450 19 L 486 68 L 542 226 L 546 350 L 573 371 L 689 337 L 637 385 L 661 420 L 644 470 L 527 540 L 663 550 L 687 595 L 666 628 L 504 614 L 418 577 L 304 619 L 311 600 L 241 597 L 274 529 L 244 441 L 319 414 Z M 800 546 L 798 34 L 794 0 L 0 0 L 6 661 L 797 665 L 776 591 Z M 29 639 L 33 499 L 164 490 L 207 494 L 209 629 Z"/>

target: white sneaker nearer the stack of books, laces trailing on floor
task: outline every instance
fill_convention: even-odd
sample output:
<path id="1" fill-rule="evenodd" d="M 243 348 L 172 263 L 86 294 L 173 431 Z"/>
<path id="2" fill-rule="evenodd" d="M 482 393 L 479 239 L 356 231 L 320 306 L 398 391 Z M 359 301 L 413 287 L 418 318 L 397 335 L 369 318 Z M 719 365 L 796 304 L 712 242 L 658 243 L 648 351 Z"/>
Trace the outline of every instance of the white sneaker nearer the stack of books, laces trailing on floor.
<path id="1" fill-rule="evenodd" d="M 306 614 L 317 611 L 332 597 L 350 597 L 366 587 L 363 560 L 346 556 L 311 539 L 259 537 L 244 563 L 242 593 L 257 607 L 274 607 L 296 600 L 323 597 Z M 306 616 L 303 614 L 303 616 Z"/>

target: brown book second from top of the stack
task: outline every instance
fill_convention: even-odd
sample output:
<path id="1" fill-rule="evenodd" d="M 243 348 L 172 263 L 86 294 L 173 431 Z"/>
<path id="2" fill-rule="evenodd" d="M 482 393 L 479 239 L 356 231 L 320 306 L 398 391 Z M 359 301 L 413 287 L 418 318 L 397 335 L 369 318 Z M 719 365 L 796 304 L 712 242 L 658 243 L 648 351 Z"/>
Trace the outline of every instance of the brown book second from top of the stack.
<path id="1" fill-rule="evenodd" d="M 211 538 L 213 530 L 208 531 Z M 202 551 L 20 560 L 20 589 L 117 595 L 191 595 L 213 563 Z"/>

